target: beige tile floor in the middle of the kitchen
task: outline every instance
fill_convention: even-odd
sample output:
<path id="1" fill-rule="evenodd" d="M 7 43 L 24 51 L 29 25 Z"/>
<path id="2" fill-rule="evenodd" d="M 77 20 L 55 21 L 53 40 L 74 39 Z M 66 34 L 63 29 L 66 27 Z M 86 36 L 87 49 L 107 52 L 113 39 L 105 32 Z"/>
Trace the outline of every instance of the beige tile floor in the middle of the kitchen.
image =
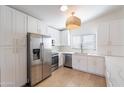
<path id="1" fill-rule="evenodd" d="M 106 87 L 106 83 L 103 77 L 61 67 L 36 87 Z"/>

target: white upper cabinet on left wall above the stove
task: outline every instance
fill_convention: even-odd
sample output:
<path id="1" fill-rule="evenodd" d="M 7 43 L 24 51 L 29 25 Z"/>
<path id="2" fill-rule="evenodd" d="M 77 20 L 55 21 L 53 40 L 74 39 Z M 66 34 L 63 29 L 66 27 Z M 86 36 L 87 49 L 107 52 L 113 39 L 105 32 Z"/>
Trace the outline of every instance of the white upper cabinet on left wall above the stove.
<path id="1" fill-rule="evenodd" d="M 54 45 L 60 46 L 60 31 L 52 27 L 48 27 L 47 32 L 51 36 L 52 40 L 54 40 Z"/>

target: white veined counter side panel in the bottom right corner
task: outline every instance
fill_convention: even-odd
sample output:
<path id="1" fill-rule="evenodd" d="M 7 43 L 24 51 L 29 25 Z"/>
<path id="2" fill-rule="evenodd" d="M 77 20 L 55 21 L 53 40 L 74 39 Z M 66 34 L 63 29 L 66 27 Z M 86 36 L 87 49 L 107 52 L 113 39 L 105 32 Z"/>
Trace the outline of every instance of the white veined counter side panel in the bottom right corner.
<path id="1" fill-rule="evenodd" d="M 124 87 L 124 57 L 106 56 L 106 83 L 108 87 Z"/>

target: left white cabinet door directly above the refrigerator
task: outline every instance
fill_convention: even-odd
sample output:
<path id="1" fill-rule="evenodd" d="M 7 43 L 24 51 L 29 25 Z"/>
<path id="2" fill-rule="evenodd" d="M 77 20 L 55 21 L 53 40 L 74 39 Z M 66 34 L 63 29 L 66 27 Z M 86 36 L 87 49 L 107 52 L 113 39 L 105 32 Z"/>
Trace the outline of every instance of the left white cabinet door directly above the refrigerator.
<path id="1" fill-rule="evenodd" d="M 28 16 L 28 32 L 38 33 L 37 24 L 38 24 L 37 19 Z"/>

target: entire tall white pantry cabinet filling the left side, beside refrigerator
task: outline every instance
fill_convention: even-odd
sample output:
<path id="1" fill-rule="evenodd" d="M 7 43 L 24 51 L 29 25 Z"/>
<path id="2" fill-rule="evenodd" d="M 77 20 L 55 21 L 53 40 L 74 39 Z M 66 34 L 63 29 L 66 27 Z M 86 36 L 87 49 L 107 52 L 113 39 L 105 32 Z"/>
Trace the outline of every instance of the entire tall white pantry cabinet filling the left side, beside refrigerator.
<path id="1" fill-rule="evenodd" d="M 23 86 L 27 83 L 27 15 L 0 6 L 0 20 L 0 86 Z"/>

